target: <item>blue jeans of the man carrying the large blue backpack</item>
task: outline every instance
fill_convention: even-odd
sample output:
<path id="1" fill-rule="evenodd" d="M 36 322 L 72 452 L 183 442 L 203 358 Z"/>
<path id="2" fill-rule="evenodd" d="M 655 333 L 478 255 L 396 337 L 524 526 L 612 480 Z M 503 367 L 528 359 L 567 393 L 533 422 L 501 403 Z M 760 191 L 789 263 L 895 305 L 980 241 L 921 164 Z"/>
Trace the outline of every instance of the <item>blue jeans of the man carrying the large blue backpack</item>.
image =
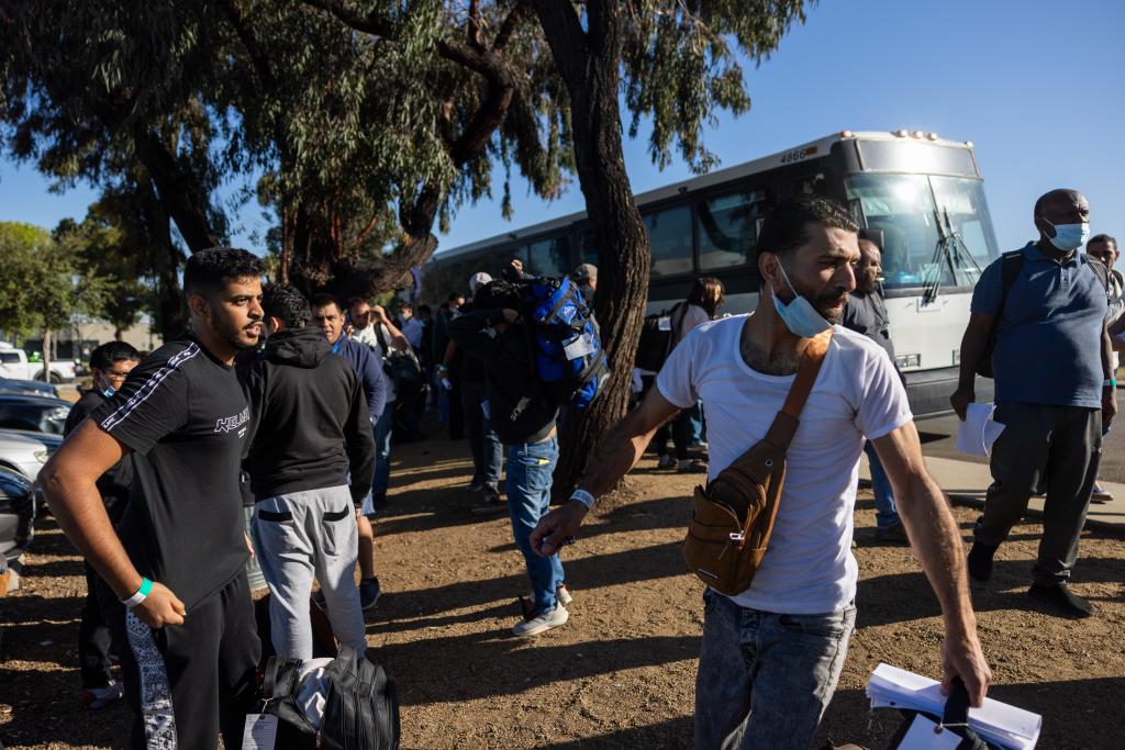
<path id="1" fill-rule="evenodd" d="M 562 584 L 562 562 L 558 553 L 541 558 L 531 549 L 531 532 L 547 515 L 551 501 L 551 475 L 559 458 L 558 437 L 541 443 L 507 445 L 507 509 L 512 515 L 512 535 L 523 553 L 536 595 L 536 609 L 550 612 L 557 606 L 555 589 Z"/>

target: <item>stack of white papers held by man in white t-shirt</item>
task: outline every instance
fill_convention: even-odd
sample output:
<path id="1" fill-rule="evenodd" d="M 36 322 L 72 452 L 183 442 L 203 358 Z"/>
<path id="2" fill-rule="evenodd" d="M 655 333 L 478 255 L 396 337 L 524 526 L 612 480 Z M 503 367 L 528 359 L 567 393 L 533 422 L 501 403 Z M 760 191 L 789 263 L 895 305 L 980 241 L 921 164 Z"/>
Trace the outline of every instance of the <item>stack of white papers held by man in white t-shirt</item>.
<path id="1" fill-rule="evenodd" d="M 879 665 L 872 672 L 867 681 L 867 697 L 871 698 L 872 708 L 908 708 L 934 716 L 940 716 L 945 710 L 945 696 L 942 695 L 937 680 L 890 665 Z M 986 742 L 1010 750 L 1030 750 L 1038 742 L 1043 717 L 992 698 L 984 698 L 983 706 L 969 710 L 969 725 Z M 911 728 L 912 731 L 915 728 Z M 933 731 L 933 726 L 929 731 Z"/>

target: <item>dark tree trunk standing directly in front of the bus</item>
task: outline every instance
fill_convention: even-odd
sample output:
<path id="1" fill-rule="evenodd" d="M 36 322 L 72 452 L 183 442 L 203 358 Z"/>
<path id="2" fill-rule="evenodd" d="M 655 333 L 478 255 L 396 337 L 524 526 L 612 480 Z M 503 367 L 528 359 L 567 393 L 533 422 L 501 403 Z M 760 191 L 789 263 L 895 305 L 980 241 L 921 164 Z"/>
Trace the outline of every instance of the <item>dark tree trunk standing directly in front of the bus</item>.
<path id="1" fill-rule="evenodd" d="M 633 201 L 621 146 L 618 106 L 621 24 L 616 3 L 585 6 L 583 30 L 569 2 L 533 0 L 555 65 L 570 97 L 578 183 L 597 243 L 594 307 L 613 376 L 605 391 L 567 423 L 561 435 L 556 495 L 567 495 L 602 437 L 629 407 L 629 385 L 648 297 L 648 234 Z"/>

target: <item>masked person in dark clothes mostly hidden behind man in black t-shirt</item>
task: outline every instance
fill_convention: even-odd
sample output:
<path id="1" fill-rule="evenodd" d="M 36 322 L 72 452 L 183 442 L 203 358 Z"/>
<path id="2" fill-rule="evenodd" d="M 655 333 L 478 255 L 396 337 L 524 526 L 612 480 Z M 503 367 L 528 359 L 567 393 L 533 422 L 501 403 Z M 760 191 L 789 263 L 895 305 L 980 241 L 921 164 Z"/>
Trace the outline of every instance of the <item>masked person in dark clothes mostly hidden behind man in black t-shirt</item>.
<path id="1" fill-rule="evenodd" d="M 63 434 L 74 432 L 90 412 L 117 392 L 129 371 L 140 362 L 141 353 L 124 341 L 111 341 L 93 350 L 90 354 L 93 385 L 66 416 Z M 129 499 L 133 457 L 126 455 L 115 463 L 101 475 L 97 485 L 109 521 L 116 524 L 122 519 Z M 124 626 L 119 626 L 117 621 L 124 622 L 125 607 L 90 563 L 83 561 L 82 564 L 86 567 L 86 603 L 82 605 L 82 620 L 78 629 L 78 661 L 87 706 L 104 708 L 125 695 L 122 685 L 112 679 L 109 671 L 110 653 L 120 656 L 119 641 Z"/>

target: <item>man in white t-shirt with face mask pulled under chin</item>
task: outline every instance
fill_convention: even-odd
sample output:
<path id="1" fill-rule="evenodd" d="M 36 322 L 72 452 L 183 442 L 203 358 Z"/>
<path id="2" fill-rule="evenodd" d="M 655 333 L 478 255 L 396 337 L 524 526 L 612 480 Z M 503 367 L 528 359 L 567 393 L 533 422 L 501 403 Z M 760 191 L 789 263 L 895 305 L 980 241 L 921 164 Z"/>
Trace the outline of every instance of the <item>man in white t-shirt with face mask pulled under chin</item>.
<path id="1" fill-rule="evenodd" d="M 705 323 L 668 358 L 640 408 L 610 432 L 569 503 L 532 532 L 557 552 L 597 495 L 640 459 L 657 427 L 702 400 L 713 479 L 760 441 L 810 340 L 835 327 L 790 445 L 768 551 L 737 596 L 704 593 L 695 684 L 699 748 L 807 750 L 855 627 L 852 516 L 860 453 L 871 440 L 911 544 L 942 605 L 944 686 L 960 676 L 979 706 L 991 679 L 976 638 L 964 551 L 940 489 L 926 473 L 906 391 L 890 358 L 837 325 L 855 288 L 856 225 L 822 198 L 781 201 L 758 237 L 757 309 Z"/>

